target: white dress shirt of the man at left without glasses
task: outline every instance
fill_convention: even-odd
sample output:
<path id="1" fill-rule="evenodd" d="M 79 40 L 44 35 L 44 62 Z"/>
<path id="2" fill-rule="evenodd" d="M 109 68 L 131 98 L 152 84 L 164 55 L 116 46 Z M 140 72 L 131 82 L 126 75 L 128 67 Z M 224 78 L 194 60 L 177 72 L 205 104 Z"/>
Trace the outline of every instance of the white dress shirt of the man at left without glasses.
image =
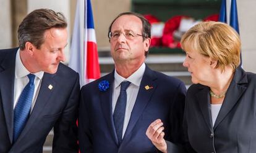
<path id="1" fill-rule="evenodd" d="M 15 59 L 15 79 L 14 79 L 14 108 L 19 100 L 20 94 L 22 93 L 23 88 L 28 84 L 29 79 L 27 77 L 30 72 L 25 68 L 22 61 L 20 60 L 20 49 L 17 51 L 16 59 Z M 23 51 L 22 51 L 23 52 Z M 35 101 L 38 96 L 40 86 L 41 86 L 41 80 L 43 78 L 43 71 L 40 71 L 35 74 L 35 91 L 33 95 L 32 100 L 32 106 L 30 109 L 30 113 L 32 112 L 33 107 L 35 106 Z"/>

